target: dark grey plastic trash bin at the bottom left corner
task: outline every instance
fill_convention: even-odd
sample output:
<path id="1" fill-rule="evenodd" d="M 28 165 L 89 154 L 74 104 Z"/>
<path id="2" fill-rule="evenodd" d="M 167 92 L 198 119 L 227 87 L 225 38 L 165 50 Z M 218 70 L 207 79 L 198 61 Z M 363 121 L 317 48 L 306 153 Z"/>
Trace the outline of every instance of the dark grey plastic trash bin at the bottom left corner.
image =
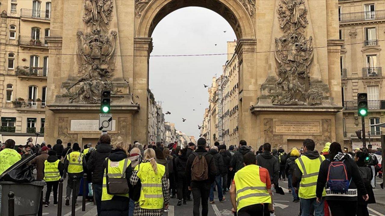
<path id="1" fill-rule="evenodd" d="M 31 183 L 14 183 L 0 181 L 1 209 L 0 215 L 8 215 L 8 193 L 15 193 L 15 216 L 36 216 L 39 211 L 40 196 L 45 185 L 44 181 Z"/>

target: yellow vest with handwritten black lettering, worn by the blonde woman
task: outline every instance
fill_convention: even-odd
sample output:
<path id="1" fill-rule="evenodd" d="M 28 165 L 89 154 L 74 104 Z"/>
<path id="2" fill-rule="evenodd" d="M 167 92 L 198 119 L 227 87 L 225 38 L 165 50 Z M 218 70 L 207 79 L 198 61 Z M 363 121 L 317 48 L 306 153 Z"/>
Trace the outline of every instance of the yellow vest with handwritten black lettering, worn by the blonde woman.
<path id="1" fill-rule="evenodd" d="M 155 160 L 155 159 L 154 159 Z M 163 208 L 163 190 L 162 177 L 166 168 L 162 164 L 157 164 L 158 172 L 155 173 L 151 163 L 141 163 L 135 167 L 137 176 L 141 179 L 142 190 L 139 206 L 142 209 L 162 209 Z"/>

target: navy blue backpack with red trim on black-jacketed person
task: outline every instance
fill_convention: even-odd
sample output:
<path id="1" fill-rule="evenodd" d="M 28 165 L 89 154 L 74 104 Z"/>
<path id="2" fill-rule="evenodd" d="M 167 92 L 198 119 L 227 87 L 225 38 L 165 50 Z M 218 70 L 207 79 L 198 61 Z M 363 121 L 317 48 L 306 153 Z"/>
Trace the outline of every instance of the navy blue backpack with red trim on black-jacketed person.
<path id="1" fill-rule="evenodd" d="M 348 172 L 343 161 L 333 161 L 329 164 L 327 185 L 329 189 L 336 193 L 345 193 L 350 186 Z"/>

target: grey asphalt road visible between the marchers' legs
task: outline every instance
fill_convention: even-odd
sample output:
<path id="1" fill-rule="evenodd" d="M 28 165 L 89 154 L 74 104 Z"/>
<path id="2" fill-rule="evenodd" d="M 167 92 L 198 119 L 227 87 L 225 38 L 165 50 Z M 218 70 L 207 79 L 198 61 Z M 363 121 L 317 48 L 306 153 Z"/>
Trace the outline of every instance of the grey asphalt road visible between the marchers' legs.
<path id="1" fill-rule="evenodd" d="M 65 186 L 67 185 L 67 180 L 64 182 L 64 191 Z M 285 195 L 275 194 L 274 203 L 275 203 L 275 215 L 276 216 L 297 216 L 300 209 L 299 203 L 293 203 L 293 197 L 291 194 L 287 193 L 287 181 L 280 181 L 280 186 L 283 186 Z M 375 190 L 381 190 L 377 187 Z M 375 191 L 376 192 L 376 191 Z M 65 192 L 64 192 L 65 195 Z M 214 199 L 216 199 L 215 204 L 209 204 L 209 216 L 232 216 L 231 213 L 231 202 L 229 201 L 229 193 L 224 195 L 226 201 L 220 203 L 218 201 L 218 194 L 214 191 Z M 51 196 L 52 199 L 52 196 Z M 63 198 L 64 202 L 65 197 Z M 379 200 L 380 199 L 380 200 Z M 378 201 L 385 203 L 385 198 L 379 197 Z M 52 200 L 51 200 L 52 203 Z M 96 206 L 92 202 L 86 203 L 86 211 L 82 211 L 82 197 L 78 198 L 79 206 L 76 206 L 76 216 L 95 216 L 96 215 Z M 164 213 L 164 216 L 190 216 L 192 215 L 192 202 L 187 202 L 187 205 L 176 206 L 177 199 L 171 199 L 170 211 L 169 213 Z M 348 206 L 346 206 L 348 207 Z M 369 206 L 369 215 L 370 216 L 385 216 L 385 205 L 383 204 L 370 204 Z M 45 216 L 57 216 L 57 206 L 43 207 L 43 215 Z M 63 203 L 62 216 L 71 215 L 71 206 L 65 206 Z"/>

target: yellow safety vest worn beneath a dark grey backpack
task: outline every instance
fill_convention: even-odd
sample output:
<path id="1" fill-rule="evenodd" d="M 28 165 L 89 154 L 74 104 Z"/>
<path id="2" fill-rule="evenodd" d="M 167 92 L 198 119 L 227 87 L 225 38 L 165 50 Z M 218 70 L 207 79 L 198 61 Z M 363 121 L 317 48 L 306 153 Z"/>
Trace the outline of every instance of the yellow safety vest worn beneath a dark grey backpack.
<path id="1" fill-rule="evenodd" d="M 107 160 L 107 159 L 106 159 Z M 110 161 L 108 160 L 108 178 L 126 178 L 126 169 L 130 166 L 131 161 L 126 158 L 121 161 Z M 127 194 L 115 194 L 117 196 L 128 196 Z M 102 201 L 110 200 L 115 195 L 107 193 L 107 179 L 105 178 L 105 169 L 103 176 L 103 187 L 102 187 Z"/>

